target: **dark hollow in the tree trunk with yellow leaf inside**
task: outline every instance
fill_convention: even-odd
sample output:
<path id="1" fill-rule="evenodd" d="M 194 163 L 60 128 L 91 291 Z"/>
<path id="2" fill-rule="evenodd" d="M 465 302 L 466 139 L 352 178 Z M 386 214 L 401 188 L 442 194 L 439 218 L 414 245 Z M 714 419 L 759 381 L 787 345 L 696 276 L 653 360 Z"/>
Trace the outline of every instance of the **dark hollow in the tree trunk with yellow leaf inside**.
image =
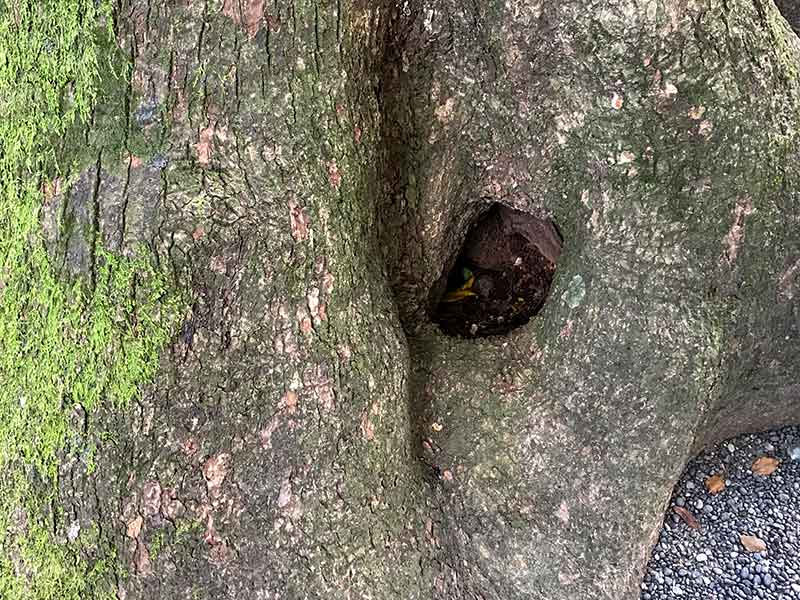
<path id="1" fill-rule="evenodd" d="M 561 253 L 550 220 L 494 204 L 469 229 L 431 290 L 432 320 L 448 335 L 501 335 L 541 310 Z"/>

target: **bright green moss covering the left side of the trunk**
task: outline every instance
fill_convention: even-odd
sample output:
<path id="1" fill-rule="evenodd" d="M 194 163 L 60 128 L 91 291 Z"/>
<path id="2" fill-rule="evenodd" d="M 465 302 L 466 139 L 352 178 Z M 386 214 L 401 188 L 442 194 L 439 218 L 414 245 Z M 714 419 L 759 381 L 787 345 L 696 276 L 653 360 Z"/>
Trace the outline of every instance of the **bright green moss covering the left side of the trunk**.
<path id="1" fill-rule="evenodd" d="M 95 286 L 59 279 L 40 226 L 49 140 L 98 98 L 108 3 L 0 0 L 0 598 L 110 598 L 115 552 L 59 541 L 57 472 L 70 414 L 124 406 L 158 364 L 177 304 L 145 254 L 98 252 Z M 106 22 L 110 23 L 108 15 Z M 91 466 L 92 461 L 89 461 Z"/>

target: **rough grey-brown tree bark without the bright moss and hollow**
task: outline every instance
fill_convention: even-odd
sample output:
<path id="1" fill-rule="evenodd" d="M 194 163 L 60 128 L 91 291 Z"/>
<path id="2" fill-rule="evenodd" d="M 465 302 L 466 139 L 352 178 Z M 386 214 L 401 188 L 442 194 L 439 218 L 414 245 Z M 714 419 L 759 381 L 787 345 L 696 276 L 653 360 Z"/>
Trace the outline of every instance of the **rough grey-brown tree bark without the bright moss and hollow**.
<path id="1" fill-rule="evenodd" d="M 687 458 L 800 417 L 800 41 L 771 2 L 116 19 L 131 83 L 46 229 L 73 274 L 87 232 L 148 244 L 191 305 L 98 469 L 64 465 L 120 597 L 634 598 Z M 444 337 L 429 292 L 493 202 L 558 224 L 550 300 Z"/>

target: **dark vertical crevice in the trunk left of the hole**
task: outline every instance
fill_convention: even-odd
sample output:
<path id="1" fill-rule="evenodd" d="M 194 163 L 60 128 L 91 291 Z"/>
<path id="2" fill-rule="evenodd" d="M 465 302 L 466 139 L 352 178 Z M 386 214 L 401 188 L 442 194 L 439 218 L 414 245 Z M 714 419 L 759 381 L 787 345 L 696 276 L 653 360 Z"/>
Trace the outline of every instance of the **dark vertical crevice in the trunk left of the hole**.
<path id="1" fill-rule="evenodd" d="M 440 473 L 431 459 L 429 382 L 438 359 L 437 335 L 431 329 L 424 283 L 423 215 L 417 178 L 427 151 L 428 91 L 433 81 L 429 63 L 436 40 L 424 29 L 418 3 L 390 4 L 384 13 L 384 55 L 376 96 L 381 112 L 381 156 L 376 165 L 376 257 L 385 265 L 394 305 L 408 347 L 409 380 L 406 409 L 410 435 L 407 451 L 416 460 L 418 475 L 431 487 Z M 402 68 L 401 68 L 402 65 Z M 475 211 L 480 207 L 475 205 Z M 461 215 L 472 218 L 472 215 Z M 430 501 L 434 496 L 427 495 Z"/>

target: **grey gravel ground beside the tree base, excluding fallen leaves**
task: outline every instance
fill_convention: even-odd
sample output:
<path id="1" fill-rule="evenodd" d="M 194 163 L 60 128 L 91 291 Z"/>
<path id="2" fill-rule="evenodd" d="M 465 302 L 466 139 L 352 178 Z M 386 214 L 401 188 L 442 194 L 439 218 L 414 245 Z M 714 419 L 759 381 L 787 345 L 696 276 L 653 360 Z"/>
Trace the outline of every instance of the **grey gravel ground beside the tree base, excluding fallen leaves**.
<path id="1" fill-rule="evenodd" d="M 753 462 L 778 459 L 770 475 Z M 722 474 L 712 495 L 706 480 Z M 675 512 L 688 510 L 699 529 Z M 757 536 L 750 552 L 740 535 Z M 800 600 L 800 427 L 744 435 L 692 460 L 675 486 L 658 543 L 645 571 L 640 600 Z"/>

